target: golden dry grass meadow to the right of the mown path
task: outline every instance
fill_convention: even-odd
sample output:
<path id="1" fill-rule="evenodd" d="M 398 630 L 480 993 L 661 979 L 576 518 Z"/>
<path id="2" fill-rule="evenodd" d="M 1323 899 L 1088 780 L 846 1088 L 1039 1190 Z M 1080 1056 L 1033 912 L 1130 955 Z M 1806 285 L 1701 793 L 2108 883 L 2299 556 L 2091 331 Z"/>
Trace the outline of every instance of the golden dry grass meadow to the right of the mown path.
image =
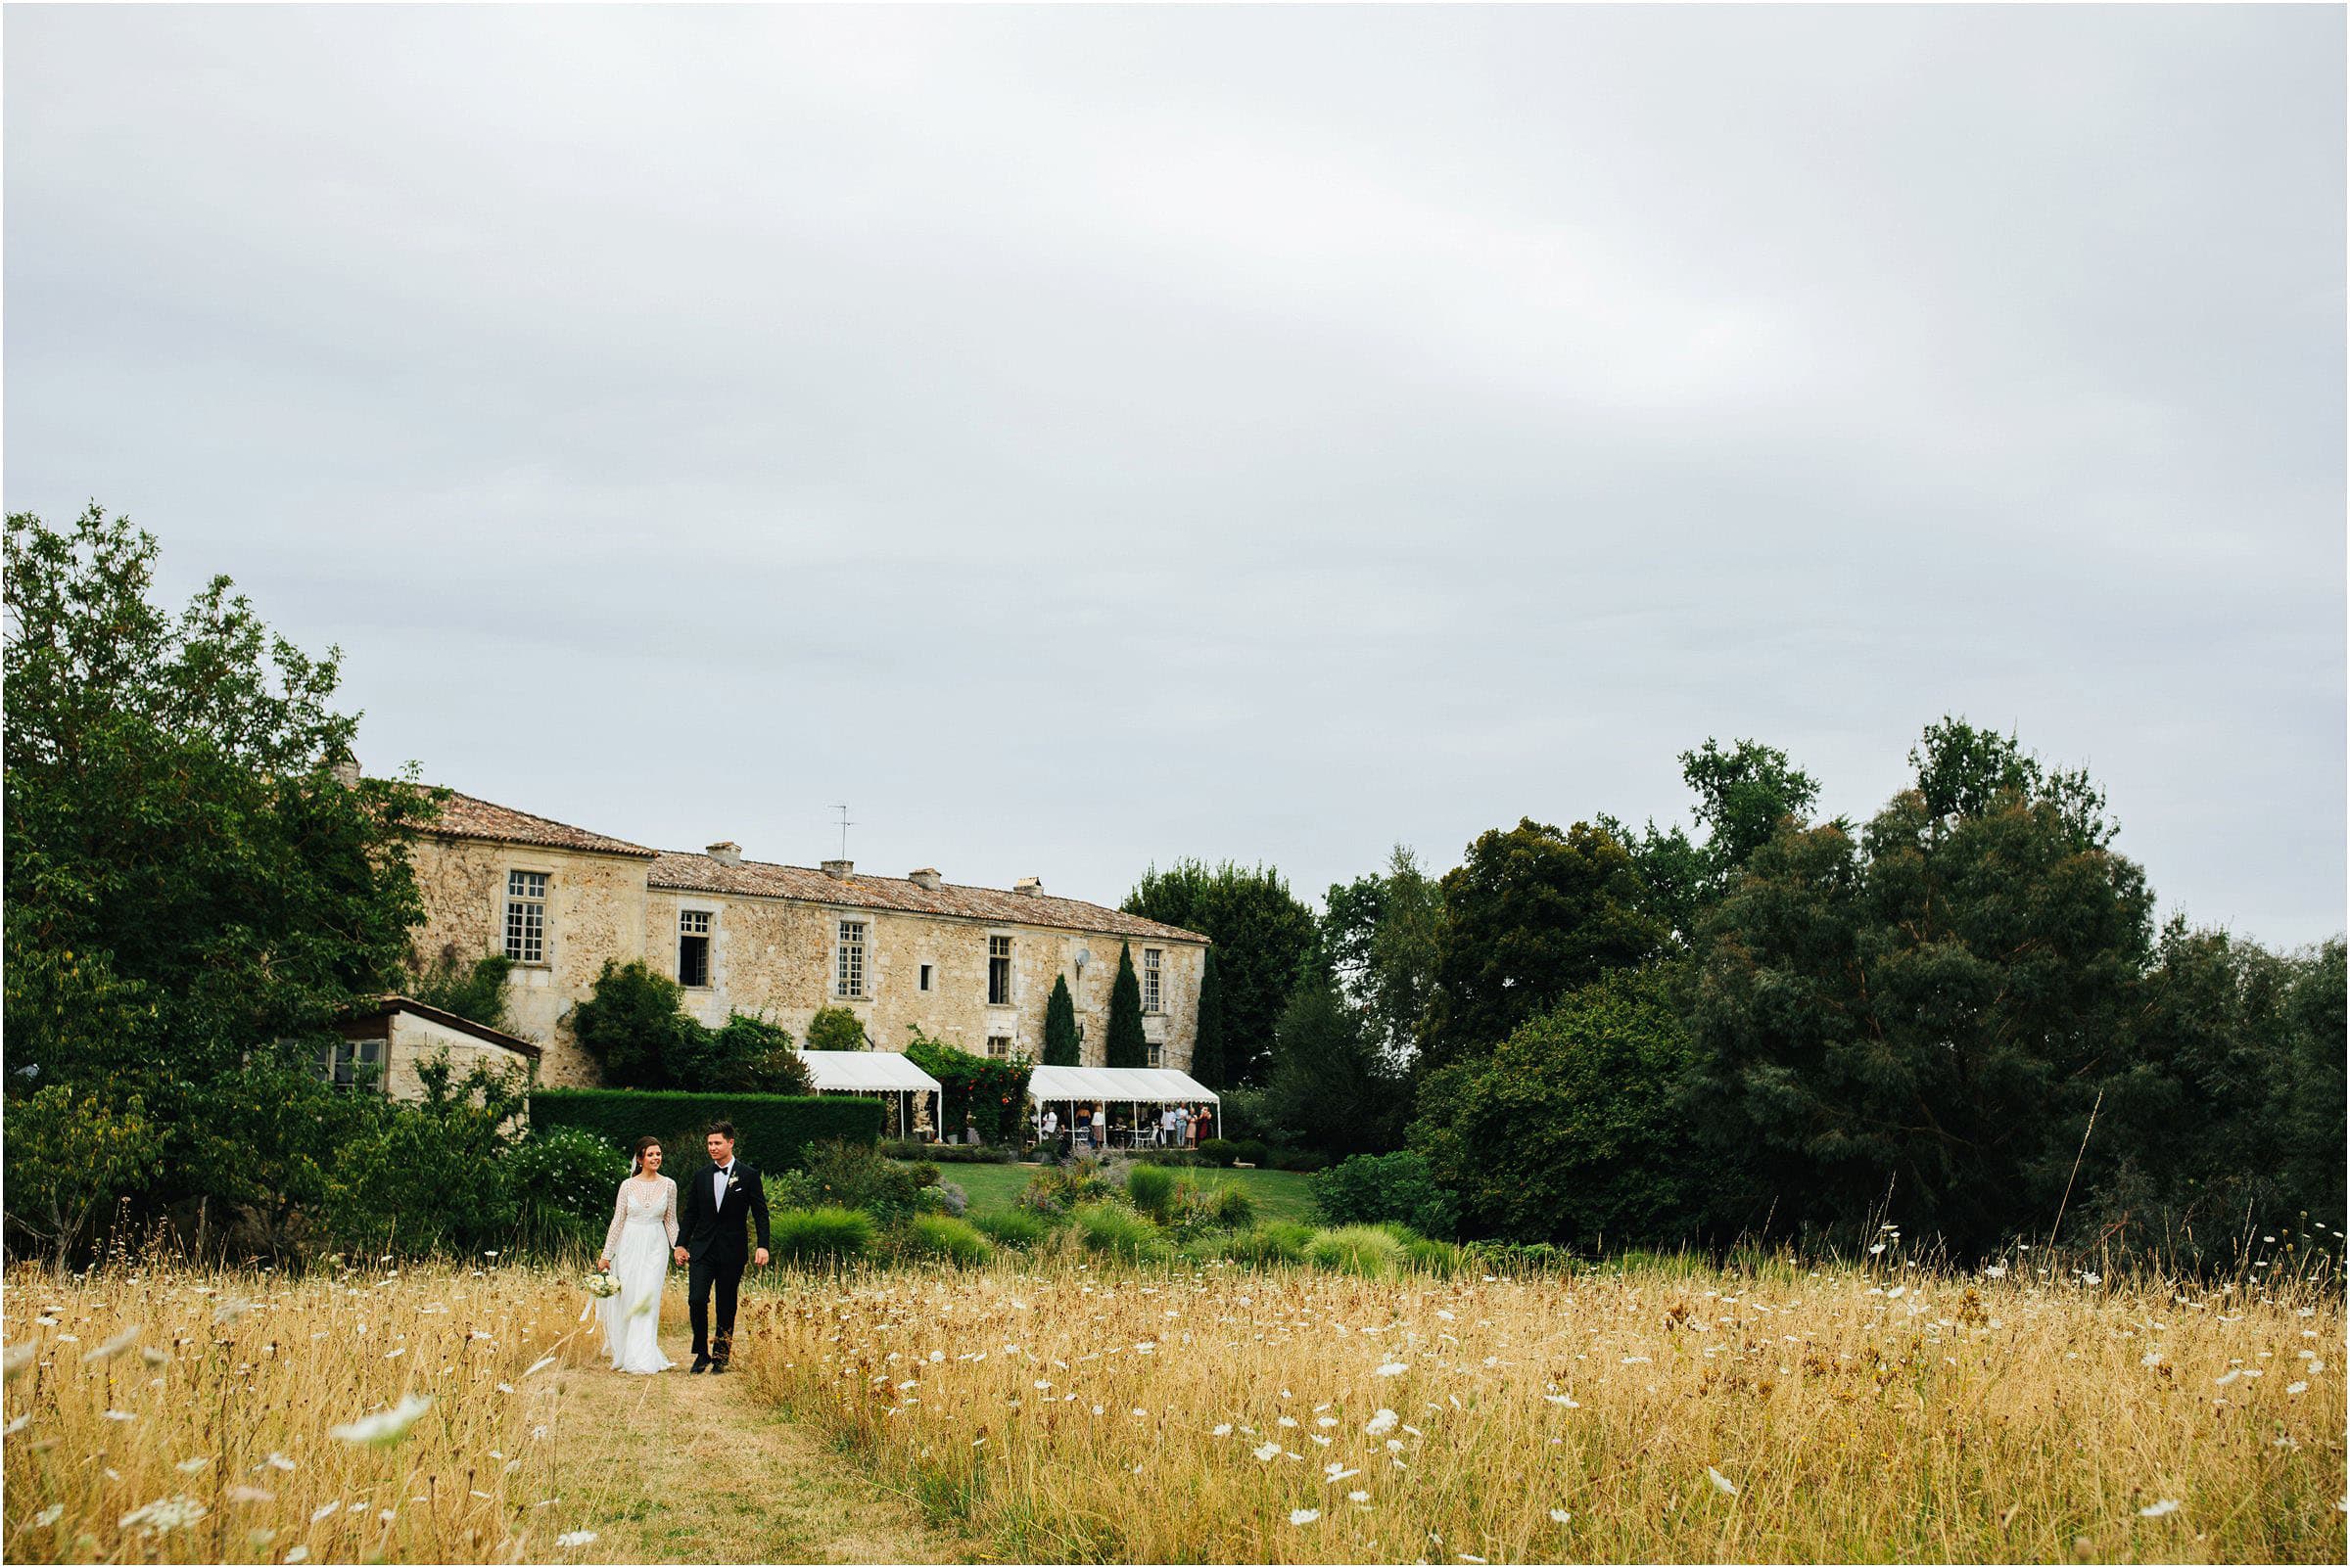
<path id="1" fill-rule="evenodd" d="M 750 1368 L 1036 1561 L 2343 1561 L 2343 1312 L 2016 1263 L 872 1275 Z"/>

